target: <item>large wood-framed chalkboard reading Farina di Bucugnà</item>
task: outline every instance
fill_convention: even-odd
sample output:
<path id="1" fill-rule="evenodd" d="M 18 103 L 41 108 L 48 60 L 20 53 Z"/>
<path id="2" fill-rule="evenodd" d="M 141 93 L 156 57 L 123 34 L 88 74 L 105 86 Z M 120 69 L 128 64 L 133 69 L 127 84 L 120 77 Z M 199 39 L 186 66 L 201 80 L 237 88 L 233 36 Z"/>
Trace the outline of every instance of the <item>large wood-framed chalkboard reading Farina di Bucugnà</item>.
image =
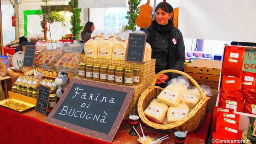
<path id="1" fill-rule="evenodd" d="M 72 78 L 46 121 L 111 142 L 134 88 Z"/>

